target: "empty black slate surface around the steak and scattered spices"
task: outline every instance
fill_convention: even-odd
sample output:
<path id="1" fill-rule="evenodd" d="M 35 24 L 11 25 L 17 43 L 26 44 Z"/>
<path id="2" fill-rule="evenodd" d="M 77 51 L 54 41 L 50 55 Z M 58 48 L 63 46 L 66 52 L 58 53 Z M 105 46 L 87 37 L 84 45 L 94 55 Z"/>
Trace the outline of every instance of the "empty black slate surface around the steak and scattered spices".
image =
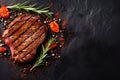
<path id="1" fill-rule="evenodd" d="M 0 4 L 26 0 L 0 0 Z M 12 2 L 13 1 L 13 2 Z M 48 5 L 68 21 L 61 61 L 25 78 L 0 59 L 0 80 L 120 80 L 119 0 L 30 0 Z"/>

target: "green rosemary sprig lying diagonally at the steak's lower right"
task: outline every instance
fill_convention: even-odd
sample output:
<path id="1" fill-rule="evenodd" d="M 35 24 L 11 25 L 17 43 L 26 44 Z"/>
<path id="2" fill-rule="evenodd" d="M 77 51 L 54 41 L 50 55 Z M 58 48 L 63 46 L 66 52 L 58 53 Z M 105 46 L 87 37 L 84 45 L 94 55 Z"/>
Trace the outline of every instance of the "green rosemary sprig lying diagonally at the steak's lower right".
<path id="1" fill-rule="evenodd" d="M 33 65 L 33 67 L 30 69 L 30 71 L 32 71 L 35 67 L 38 67 L 44 64 L 45 59 L 48 57 L 47 52 L 50 50 L 50 46 L 53 44 L 54 41 L 55 41 L 55 38 L 50 38 L 50 40 L 48 41 L 45 47 L 42 45 L 41 54 L 38 57 L 35 64 Z"/>

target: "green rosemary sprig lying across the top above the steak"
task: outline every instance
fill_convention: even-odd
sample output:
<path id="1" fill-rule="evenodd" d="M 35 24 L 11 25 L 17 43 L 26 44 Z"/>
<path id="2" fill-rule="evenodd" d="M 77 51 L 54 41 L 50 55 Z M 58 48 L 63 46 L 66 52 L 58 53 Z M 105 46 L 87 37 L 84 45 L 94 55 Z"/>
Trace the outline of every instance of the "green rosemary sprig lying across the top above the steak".
<path id="1" fill-rule="evenodd" d="M 49 11 L 49 7 L 43 8 L 43 7 L 36 7 L 36 4 L 32 4 L 32 5 L 28 5 L 28 4 L 29 4 L 29 2 L 26 1 L 24 3 L 17 3 L 12 6 L 7 6 L 7 8 L 13 9 L 13 10 L 18 10 L 18 11 L 25 10 L 26 12 L 32 11 L 37 14 L 44 14 L 47 17 L 52 17 L 53 12 Z"/>

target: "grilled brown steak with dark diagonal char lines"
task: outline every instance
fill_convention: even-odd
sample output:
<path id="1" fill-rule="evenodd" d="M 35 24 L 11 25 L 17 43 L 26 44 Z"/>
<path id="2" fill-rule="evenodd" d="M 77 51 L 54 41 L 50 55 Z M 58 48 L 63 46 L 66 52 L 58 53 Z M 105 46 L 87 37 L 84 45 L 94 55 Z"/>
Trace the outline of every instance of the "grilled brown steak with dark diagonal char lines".
<path id="1" fill-rule="evenodd" d="M 16 17 L 3 32 L 2 38 L 10 47 L 15 62 L 28 62 L 46 37 L 47 26 L 40 16 L 22 14 Z"/>

